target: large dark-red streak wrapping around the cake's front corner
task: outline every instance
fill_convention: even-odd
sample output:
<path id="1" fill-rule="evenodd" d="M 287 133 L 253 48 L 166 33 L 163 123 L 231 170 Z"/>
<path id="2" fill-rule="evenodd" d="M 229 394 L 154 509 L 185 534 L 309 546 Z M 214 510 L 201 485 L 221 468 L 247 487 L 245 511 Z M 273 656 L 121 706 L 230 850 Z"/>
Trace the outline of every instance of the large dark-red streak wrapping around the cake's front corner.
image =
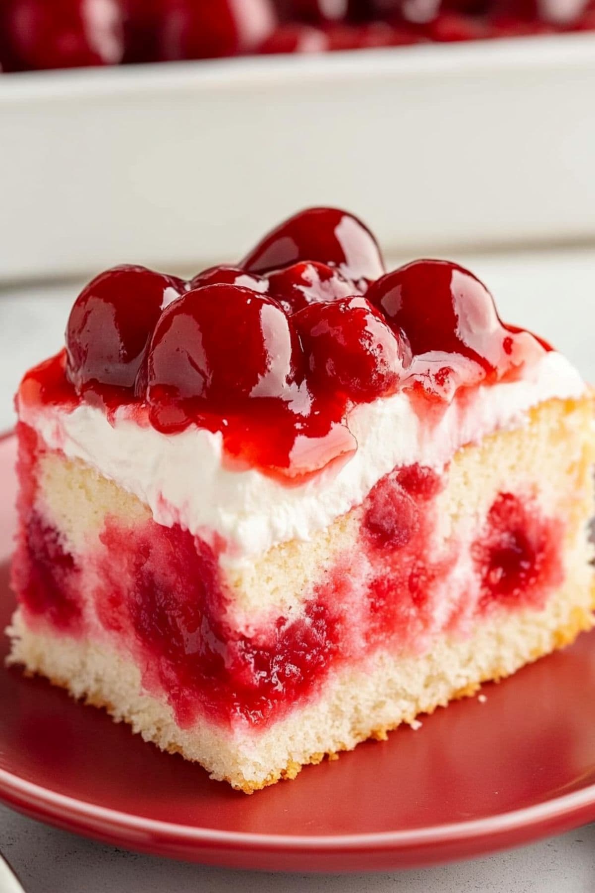
<path id="1" fill-rule="evenodd" d="M 217 556 L 178 526 L 107 522 L 95 594 L 100 621 L 133 644 L 149 690 L 168 693 L 178 722 L 266 722 L 309 694 L 342 639 L 340 605 L 312 599 L 254 638 L 226 622 Z"/>

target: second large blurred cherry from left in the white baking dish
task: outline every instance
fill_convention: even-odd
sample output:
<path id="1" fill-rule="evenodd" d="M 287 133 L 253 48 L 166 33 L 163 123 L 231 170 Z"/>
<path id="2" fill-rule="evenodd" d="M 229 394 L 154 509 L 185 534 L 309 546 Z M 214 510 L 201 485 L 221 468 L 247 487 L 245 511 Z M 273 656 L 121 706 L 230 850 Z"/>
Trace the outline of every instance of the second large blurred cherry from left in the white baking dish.
<path id="1" fill-rule="evenodd" d="M 250 53 L 275 29 L 271 0 L 158 0 L 161 59 Z"/>

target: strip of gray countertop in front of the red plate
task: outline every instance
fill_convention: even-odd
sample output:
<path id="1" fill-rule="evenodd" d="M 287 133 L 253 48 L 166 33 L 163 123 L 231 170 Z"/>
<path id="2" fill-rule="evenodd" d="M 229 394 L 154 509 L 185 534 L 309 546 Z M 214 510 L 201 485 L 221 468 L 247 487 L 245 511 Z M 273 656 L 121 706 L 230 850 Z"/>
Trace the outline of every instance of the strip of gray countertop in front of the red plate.
<path id="1" fill-rule="evenodd" d="M 0 806 L 26 893 L 593 893 L 595 824 L 474 862 L 381 874 L 231 872 L 104 847 Z M 1 893 L 1 891 L 0 891 Z"/>

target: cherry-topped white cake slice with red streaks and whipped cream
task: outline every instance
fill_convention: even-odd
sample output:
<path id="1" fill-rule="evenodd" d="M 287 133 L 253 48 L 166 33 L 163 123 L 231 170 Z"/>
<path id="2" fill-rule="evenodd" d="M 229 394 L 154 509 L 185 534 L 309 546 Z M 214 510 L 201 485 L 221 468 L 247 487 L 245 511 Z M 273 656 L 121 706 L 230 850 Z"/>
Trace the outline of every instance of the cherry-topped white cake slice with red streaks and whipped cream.
<path id="1" fill-rule="evenodd" d="M 103 273 L 17 407 L 10 662 L 236 789 L 591 628 L 589 390 L 351 214 Z"/>

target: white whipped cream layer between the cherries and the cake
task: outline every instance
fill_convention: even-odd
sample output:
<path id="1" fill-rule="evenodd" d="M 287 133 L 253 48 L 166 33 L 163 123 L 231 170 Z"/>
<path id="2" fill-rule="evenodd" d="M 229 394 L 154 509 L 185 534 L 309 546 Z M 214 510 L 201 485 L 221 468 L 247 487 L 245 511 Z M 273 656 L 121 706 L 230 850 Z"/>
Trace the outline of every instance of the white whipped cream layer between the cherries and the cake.
<path id="1" fill-rule="evenodd" d="M 293 538 L 309 539 L 353 506 L 395 466 L 420 463 L 442 470 L 454 453 L 496 430 L 513 429 L 527 411 L 553 397 L 579 397 L 586 386 L 566 358 L 551 352 L 522 380 L 474 388 L 431 425 L 406 392 L 358 405 L 348 424 L 358 448 L 297 486 L 224 463 L 219 433 L 190 427 L 165 435 L 120 411 L 113 425 L 82 404 L 68 413 L 21 402 L 20 417 L 48 447 L 94 467 L 148 505 L 155 521 L 179 523 L 194 535 L 227 544 L 221 559 L 242 563 Z"/>

